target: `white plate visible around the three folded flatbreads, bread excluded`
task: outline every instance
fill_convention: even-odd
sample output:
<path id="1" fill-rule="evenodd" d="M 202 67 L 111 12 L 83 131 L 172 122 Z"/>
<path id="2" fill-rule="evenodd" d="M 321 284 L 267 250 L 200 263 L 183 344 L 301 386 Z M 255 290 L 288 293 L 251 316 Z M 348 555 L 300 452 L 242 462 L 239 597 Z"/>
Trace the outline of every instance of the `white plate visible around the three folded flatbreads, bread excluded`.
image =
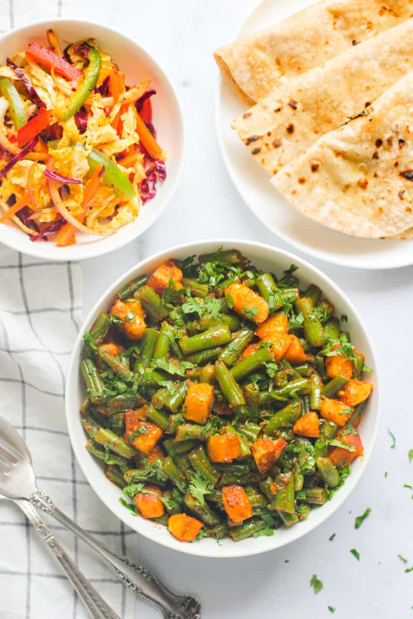
<path id="1" fill-rule="evenodd" d="M 309 4 L 308 0 L 263 0 L 233 38 L 263 30 Z M 230 128 L 233 118 L 245 109 L 245 104 L 219 77 L 217 130 L 222 156 L 241 197 L 269 230 L 315 258 L 342 266 L 394 269 L 413 264 L 413 240 L 370 240 L 344 235 L 307 219 L 290 206 L 271 186 L 268 173 L 253 162 L 237 132 Z"/>

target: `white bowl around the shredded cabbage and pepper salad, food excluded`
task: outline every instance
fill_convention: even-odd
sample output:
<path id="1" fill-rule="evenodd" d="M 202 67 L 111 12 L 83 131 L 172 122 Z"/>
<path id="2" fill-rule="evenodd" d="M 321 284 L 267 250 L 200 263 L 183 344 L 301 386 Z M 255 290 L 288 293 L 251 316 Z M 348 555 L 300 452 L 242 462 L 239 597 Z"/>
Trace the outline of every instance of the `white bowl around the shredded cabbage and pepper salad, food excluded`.
<path id="1" fill-rule="evenodd" d="M 28 43 L 46 43 L 46 30 L 54 28 L 59 41 L 78 41 L 95 38 L 103 51 L 126 74 L 126 83 L 133 85 L 150 79 L 157 91 L 152 98 L 154 125 L 157 137 L 168 154 L 167 179 L 157 186 L 157 194 L 142 207 L 137 219 L 125 225 L 112 236 L 99 239 L 98 236 L 79 233 L 76 245 L 58 247 L 53 241 L 32 242 L 14 223 L 0 224 L 0 243 L 22 253 L 49 260 L 83 260 L 102 256 L 141 236 L 154 223 L 170 201 L 180 180 L 185 157 L 185 131 L 183 113 L 178 94 L 172 80 L 165 74 L 152 54 L 143 50 L 135 41 L 107 26 L 77 19 L 59 18 L 42 20 L 33 24 L 9 30 L 0 39 L 0 64 L 7 56 L 25 50 Z M 98 239 L 98 240 L 97 240 Z"/>

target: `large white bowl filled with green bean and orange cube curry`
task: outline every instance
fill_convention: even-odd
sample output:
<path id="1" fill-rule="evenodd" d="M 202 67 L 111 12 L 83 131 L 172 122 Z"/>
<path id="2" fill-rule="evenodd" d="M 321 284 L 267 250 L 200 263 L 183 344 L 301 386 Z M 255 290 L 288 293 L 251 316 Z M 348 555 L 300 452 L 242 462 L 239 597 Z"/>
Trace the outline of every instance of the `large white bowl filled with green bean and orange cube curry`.
<path id="1" fill-rule="evenodd" d="M 349 496 L 376 438 L 377 383 L 365 326 L 326 275 L 260 243 L 201 241 L 97 301 L 66 416 L 87 480 L 125 524 L 181 552 L 245 556 Z"/>

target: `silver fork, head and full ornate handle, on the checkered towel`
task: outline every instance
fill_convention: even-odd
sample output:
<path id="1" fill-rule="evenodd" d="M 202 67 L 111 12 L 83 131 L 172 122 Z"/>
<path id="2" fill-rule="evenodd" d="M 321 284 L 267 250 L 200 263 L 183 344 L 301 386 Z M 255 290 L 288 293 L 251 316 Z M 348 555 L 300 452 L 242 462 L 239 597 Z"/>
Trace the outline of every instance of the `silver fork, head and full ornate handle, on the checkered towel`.
<path id="1" fill-rule="evenodd" d="M 19 505 L 32 522 L 33 517 L 38 517 L 33 507 L 56 518 L 77 537 L 84 540 L 134 594 L 158 608 L 165 619 L 199 619 L 201 617 L 201 604 L 197 599 L 189 595 L 174 594 L 146 568 L 105 547 L 61 512 L 45 493 L 38 490 L 30 451 L 19 433 L 2 417 L 0 417 L 0 493 Z M 30 508 L 33 510 L 32 517 L 28 515 Z M 43 524 L 42 526 L 44 527 Z M 51 534 L 48 533 L 48 535 Z M 53 536 L 51 539 L 53 540 Z M 56 541 L 53 540 L 53 543 L 56 544 Z M 87 584 L 90 587 L 90 584 Z M 98 595 L 97 592 L 95 593 Z M 100 617 L 100 615 L 96 616 Z M 113 613 L 107 617 L 116 619 L 117 615 Z"/>

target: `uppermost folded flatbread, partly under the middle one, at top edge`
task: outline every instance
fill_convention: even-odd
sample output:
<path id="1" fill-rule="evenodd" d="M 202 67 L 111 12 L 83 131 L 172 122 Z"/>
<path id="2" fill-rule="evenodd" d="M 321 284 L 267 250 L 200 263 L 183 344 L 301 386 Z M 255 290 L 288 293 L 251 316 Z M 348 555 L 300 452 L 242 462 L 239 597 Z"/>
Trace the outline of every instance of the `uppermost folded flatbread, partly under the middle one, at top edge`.
<path id="1" fill-rule="evenodd" d="M 413 15 L 408 0 L 323 0 L 214 52 L 225 79 L 253 101 Z"/>

